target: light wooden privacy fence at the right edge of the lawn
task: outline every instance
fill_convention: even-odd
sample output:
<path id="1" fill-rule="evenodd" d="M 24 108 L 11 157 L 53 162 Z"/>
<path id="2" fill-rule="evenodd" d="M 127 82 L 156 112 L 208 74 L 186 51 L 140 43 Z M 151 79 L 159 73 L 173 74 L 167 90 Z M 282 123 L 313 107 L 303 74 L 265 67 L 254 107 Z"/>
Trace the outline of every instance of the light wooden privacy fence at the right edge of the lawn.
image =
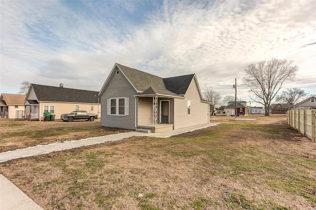
<path id="1" fill-rule="evenodd" d="M 287 111 L 288 124 L 308 137 L 312 142 L 316 141 L 316 110 L 315 109 L 291 109 Z"/>

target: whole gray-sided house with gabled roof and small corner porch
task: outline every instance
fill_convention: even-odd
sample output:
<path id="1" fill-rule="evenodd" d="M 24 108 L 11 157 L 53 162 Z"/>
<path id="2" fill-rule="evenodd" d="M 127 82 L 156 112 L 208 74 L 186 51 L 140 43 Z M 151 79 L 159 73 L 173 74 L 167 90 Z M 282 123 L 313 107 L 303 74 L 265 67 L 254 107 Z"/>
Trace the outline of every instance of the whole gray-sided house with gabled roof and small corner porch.
<path id="1" fill-rule="evenodd" d="M 196 74 L 161 78 L 115 64 L 100 96 L 101 126 L 158 133 L 209 123 Z"/>

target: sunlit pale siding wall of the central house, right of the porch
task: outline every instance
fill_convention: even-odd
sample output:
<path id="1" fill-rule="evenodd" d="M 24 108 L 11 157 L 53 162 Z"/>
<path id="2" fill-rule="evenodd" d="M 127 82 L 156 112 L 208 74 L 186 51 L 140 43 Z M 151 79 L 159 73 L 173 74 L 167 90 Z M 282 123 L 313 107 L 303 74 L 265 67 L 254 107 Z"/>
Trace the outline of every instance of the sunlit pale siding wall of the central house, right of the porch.
<path id="1" fill-rule="evenodd" d="M 188 100 L 191 101 L 191 114 L 188 114 Z M 174 99 L 174 129 L 209 123 L 208 104 L 200 102 L 197 83 L 194 79 L 185 95 L 185 99 Z"/>

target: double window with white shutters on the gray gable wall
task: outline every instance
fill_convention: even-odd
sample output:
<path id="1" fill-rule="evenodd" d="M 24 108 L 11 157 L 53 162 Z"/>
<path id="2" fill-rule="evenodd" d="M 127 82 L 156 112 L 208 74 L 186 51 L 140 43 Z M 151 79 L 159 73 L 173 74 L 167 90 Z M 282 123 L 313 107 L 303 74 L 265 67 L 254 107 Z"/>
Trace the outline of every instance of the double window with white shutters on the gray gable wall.
<path id="1" fill-rule="evenodd" d="M 108 115 L 128 115 L 129 99 L 128 98 L 113 98 L 107 100 Z"/>

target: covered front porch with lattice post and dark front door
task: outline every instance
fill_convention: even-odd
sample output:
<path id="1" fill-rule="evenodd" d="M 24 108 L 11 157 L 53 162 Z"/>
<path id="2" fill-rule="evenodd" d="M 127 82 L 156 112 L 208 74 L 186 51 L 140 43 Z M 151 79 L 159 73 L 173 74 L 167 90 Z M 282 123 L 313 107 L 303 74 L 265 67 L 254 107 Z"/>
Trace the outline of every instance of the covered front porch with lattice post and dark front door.
<path id="1" fill-rule="evenodd" d="M 166 96 L 138 96 L 136 131 L 161 133 L 174 129 L 174 99 Z"/>

